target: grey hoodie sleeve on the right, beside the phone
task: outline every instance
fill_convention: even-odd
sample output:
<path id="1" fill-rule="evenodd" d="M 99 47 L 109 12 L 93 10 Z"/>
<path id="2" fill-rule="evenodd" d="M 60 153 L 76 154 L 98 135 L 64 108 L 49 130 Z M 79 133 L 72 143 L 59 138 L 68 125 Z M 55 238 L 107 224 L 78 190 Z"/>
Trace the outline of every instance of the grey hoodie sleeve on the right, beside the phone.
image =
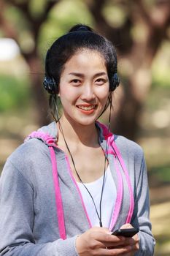
<path id="1" fill-rule="evenodd" d="M 149 187 L 144 156 L 142 157 L 134 194 L 134 215 L 131 225 L 139 227 L 139 251 L 135 255 L 152 256 L 154 254 L 155 239 L 151 232 Z"/>

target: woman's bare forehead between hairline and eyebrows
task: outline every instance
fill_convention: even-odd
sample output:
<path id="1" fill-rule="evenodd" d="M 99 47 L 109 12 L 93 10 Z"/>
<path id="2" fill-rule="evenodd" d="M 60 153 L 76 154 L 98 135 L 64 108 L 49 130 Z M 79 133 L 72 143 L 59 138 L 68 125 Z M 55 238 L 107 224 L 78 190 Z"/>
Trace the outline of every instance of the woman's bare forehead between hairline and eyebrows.
<path id="1" fill-rule="evenodd" d="M 98 51 L 90 49 L 77 50 L 77 52 L 66 61 L 64 70 L 66 71 L 66 69 L 77 69 L 77 71 L 80 69 L 84 70 L 84 72 L 89 70 L 95 72 L 101 69 L 107 72 L 104 57 L 101 53 L 98 53 Z"/>

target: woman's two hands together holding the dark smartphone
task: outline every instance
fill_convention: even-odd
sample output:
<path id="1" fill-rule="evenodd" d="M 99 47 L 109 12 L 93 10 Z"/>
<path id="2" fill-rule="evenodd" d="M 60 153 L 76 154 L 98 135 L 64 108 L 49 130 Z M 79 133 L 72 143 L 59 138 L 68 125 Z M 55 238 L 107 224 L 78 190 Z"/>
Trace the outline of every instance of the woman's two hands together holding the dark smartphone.
<path id="1" fill-rule="evenodd" d="M 134 251 L 133 238 L 113 236 L 104 227 L 93 227 L 77 236 L 76 248 L 79 256 L 126 255 Z"/>

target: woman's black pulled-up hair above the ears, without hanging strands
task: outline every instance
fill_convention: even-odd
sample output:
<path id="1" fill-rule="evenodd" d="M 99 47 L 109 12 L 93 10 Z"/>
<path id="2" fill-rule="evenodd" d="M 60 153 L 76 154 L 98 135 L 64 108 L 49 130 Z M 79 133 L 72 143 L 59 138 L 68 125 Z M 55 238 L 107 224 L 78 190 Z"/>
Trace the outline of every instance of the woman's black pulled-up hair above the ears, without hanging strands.
<path id="1" fill-rule="evenodd" d="M 108 39 L 97 34 L 90 26 L 77 24 L 67 34 L 55 40 L 50 49 L 47 50 L 45 60 L 45 75 L 53 78 L 56 85 L 60 83 L 61 72 L 64 64 L 74 53 L 81 49 L 96 50 L 104 57 L 107 67 L 109 83 L 117 73 L 117 55 L 115 47 Z"/>

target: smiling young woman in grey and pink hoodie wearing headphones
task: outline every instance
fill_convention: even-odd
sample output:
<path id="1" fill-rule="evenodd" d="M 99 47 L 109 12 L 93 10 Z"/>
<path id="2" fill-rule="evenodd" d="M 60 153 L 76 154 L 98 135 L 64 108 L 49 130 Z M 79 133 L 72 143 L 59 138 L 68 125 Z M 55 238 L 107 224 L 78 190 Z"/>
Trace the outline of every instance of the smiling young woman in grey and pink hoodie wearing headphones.
<path id="1" fill-rule="evenodd" d="M 55 121 L 4 166 L 1 256 L 153 255 L 142 149 L 97 121 L 118 84 L 115 48 L 88 26 L 74 26 L 47 51 Z M 120 227 L 139 233 L 112 235 Z"/>

